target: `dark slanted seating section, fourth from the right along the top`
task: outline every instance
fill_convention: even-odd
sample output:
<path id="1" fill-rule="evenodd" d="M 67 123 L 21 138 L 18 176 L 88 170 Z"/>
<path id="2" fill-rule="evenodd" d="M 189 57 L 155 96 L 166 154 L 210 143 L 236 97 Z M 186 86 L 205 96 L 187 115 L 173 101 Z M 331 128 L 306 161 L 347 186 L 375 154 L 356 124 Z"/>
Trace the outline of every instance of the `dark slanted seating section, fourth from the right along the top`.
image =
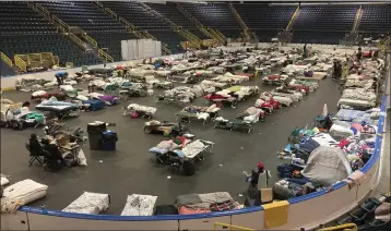
<path id="1" fill-rule="evenodd" d="M 238 37 L 241 32 L 227 3 L 180 4 L 205 27 L 217 28 L 226 37 Z"/>

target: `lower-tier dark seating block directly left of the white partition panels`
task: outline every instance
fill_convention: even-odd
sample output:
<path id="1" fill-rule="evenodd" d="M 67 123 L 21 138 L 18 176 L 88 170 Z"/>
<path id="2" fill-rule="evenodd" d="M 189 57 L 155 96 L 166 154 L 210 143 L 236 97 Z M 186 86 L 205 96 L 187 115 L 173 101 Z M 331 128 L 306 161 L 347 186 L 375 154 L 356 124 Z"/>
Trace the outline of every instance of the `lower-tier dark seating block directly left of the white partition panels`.
<path id="1" fill-rule="evenodd" d="M 121 40 L 137 39 L 134 35 L 126 32 L 96 32 L 88 33 L 88 35 L 98 41 L 100 48 L 107 48 L 107 52 L 112 57 L 114 61 L 122 60 Z"/>

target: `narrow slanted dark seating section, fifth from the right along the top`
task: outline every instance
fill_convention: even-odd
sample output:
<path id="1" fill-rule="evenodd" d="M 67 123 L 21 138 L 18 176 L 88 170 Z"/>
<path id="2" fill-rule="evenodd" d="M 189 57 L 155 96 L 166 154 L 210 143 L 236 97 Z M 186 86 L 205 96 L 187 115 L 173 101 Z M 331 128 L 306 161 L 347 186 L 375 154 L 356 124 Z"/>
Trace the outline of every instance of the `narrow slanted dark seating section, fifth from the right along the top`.
<path id="1" fill-rule="evenodd" d="M 158 12 L 161 15 L 165 16 L 173 23 L 177 24 L 178 26 L 182 26 L 183 28 L 188 29 L 197 37 L 201 39 L 206 39 L 208 37 L 202 34 L 193 22 L 191 22 L 187 16 L 185 16 L 177 8 L 176 3 L 161 4 L 161 3 L 146 3 L 150 8 Z"/>

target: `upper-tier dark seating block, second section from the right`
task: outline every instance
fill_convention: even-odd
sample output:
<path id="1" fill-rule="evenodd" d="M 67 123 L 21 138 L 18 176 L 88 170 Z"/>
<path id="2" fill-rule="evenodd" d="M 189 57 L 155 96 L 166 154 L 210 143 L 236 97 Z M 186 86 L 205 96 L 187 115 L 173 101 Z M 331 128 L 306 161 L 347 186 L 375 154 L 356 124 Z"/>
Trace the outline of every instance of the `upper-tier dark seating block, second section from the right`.
<path id="1" fill-rule="evenodd" d="M 358 5 L 301 5 L 294 29 L 352 29 Z"/>

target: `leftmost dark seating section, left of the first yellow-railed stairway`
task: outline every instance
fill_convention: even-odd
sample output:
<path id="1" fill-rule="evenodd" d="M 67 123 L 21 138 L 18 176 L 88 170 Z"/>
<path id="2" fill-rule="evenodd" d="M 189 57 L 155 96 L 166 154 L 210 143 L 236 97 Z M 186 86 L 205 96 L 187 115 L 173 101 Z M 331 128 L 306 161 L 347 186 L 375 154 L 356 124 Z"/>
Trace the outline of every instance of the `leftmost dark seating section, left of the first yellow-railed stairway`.
<path id="1" fill-rule="evenodd" d="M 52 52 L 60 63 L 74 65 L 100 62 L 93 53 L 85 53 L 71 40 L 57 34 L 56 27 L 27 7 L 26 2 L 0 2 L 0 51 L 13 59 L 14 54 Z"/>

